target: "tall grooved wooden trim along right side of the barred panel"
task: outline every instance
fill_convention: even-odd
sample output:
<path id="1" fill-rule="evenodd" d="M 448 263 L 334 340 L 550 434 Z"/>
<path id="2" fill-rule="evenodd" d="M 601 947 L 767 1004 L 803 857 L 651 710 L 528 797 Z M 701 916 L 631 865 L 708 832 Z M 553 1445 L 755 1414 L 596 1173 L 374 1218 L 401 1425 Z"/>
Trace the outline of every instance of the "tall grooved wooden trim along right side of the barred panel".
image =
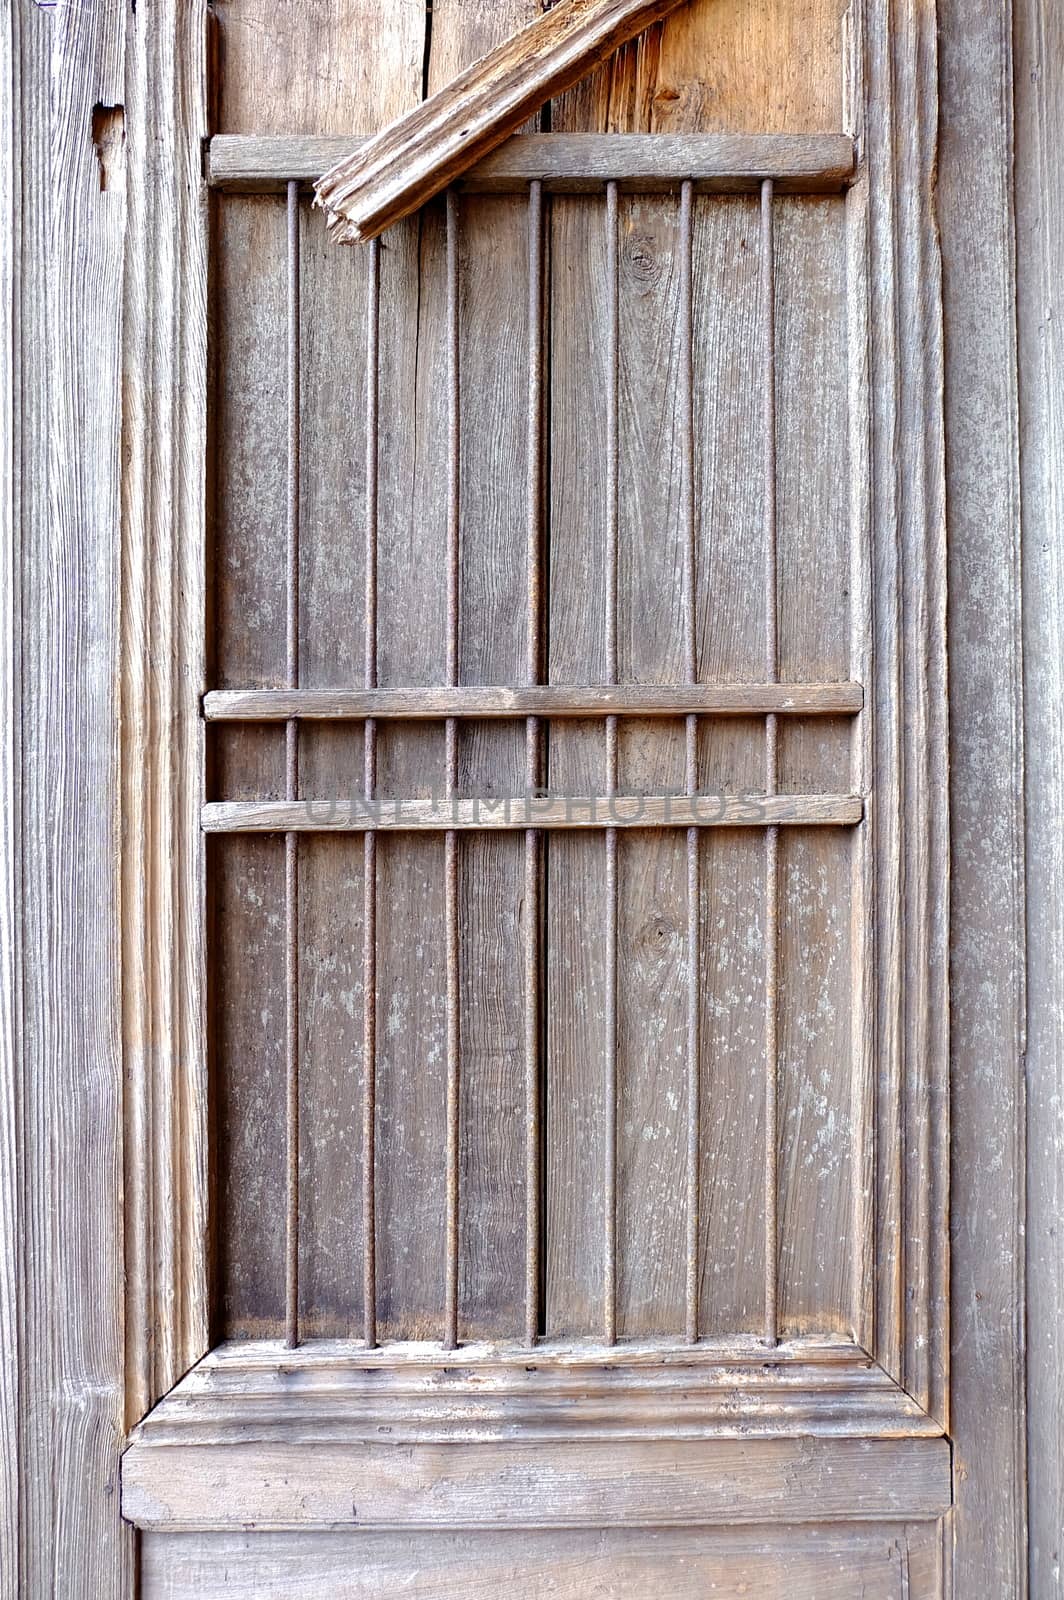
<path id="1" fill-rule="evenodd" d="M 867 264 L 864 315 L 851 315 L 850 336 L 854 376 L 867 373 L 870 397 L 867 411 L 854 405 L 853 450 L 866 462 L 858 504 L 870 518 L 875 574 L 875 690 L 862 754 L 875 773 L 875 867 L 861 893 L 866 918 L 870 914 L 866 949 L 874 952 L 864 1093 L 875 1106 L 875 1136 L 864 1162 L 877 1198 L 870 1318 L 859 1328 L 875 1330 L 875 1358 L 947 1426 L 949 762 L 936 50 L 934 5 L 870 3 L 856 14 L 853 78 L 864 90 L 850 98 L 864 106 L 867 181 L 850 190 L 846 208 L 853 261 Z M 854 472 L 854 485 L 859 477 Z"/>

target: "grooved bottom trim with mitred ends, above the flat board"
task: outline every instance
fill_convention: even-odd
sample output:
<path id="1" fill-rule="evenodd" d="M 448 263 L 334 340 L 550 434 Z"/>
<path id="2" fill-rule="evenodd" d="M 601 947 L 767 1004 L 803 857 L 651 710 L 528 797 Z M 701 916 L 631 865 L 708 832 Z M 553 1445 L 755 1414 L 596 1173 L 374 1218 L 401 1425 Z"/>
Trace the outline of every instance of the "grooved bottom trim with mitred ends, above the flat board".
<path id="1" fill-rule="evenodd" d="M 134 1450 L 381 1440 L 938 1437 L 941 1429 L 858 1346 L 754 1338 L 677 1347 L 309 1342 L 213 1350 L 155 1408 Z"/>

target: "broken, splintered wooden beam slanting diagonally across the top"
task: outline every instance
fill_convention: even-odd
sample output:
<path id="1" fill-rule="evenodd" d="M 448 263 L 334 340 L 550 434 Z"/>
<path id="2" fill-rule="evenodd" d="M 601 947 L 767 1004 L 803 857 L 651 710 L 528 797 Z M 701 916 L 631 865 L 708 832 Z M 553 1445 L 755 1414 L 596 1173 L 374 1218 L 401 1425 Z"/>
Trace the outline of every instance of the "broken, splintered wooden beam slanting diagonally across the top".
<path id="1" fill-rule="evenodd" d="M 680 0 L 560 0 L 317 182 L 330 232 L 376 238 Z"/>

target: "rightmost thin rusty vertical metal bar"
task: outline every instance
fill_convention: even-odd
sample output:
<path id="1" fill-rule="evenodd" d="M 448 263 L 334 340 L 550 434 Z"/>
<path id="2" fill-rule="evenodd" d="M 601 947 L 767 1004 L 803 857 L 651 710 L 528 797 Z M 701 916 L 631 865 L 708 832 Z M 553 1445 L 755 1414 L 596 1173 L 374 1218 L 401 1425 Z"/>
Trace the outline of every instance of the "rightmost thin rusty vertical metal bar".
<path id="1" fill-rule="evenodd" d="M 765 678 L 779 680 L 776 525 L 776 272 L 773 181 L 762 182 L 762 418 L 765 440 Z M 779 782 L 776 717 L 765 717 L 765 792 Z M 779 1342 L 779 829 L 765 834 L 765 1342 Z"/>

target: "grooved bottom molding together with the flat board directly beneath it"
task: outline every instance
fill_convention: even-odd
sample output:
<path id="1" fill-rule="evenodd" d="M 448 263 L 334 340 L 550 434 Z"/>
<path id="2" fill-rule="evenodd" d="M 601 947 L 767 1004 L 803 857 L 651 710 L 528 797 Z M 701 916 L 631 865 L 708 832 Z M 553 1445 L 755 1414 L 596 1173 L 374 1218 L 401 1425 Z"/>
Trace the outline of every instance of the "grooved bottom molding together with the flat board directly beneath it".
<path id="1" fill-rule="evenodd" d="M 845 1341 L 771 1360 L 752 1338 L 230 1344 L 136 1429 L 123 1514 L 168 1531 L 936 1518 L 950 1502 L 939 1435 Z"/>

